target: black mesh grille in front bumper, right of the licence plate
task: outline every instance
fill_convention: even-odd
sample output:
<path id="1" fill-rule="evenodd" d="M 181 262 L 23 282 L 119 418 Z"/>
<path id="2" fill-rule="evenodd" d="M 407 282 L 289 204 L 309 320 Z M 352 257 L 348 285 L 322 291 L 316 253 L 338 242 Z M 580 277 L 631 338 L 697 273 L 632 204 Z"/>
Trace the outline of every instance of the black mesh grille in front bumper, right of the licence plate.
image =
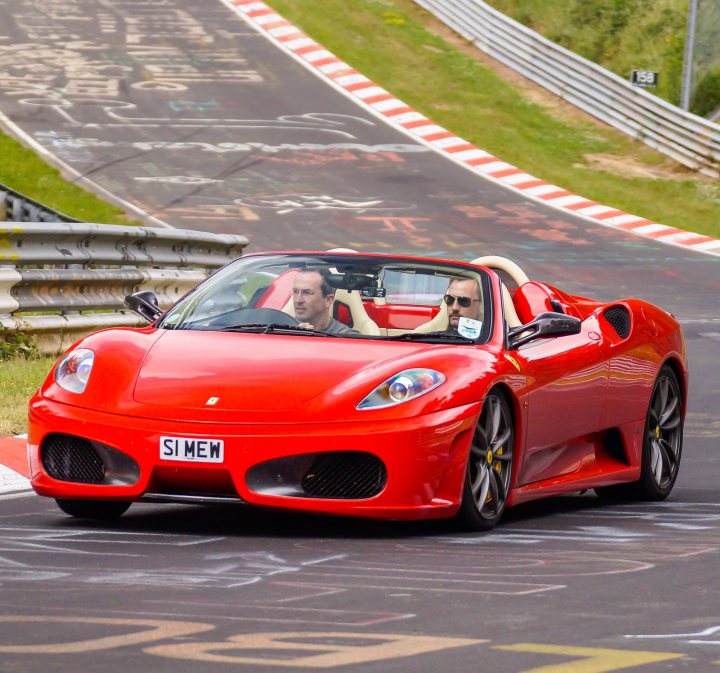
<path id="1" fill-rule="evenodd" d="M 302 489 L 313 498 L 372 498 L 387 483 L 383 462 L 360 451 L 319 454 L 302 478 Z"/>

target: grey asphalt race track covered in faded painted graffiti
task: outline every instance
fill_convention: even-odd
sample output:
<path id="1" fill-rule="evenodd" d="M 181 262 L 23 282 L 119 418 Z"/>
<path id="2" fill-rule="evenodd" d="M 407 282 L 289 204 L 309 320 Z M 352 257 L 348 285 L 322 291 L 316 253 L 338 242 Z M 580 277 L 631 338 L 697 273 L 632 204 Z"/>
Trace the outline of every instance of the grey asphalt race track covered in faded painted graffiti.
<path id="1" fill-rule="evenodd" d="M 505 255 L 672 311 L 691 368 L 670 499 L 556 498 L 489 534 L 173 505 L 79 523 L 0 467 L 2 673 L 720 670 L 720 258 L 473 175 L 214 0 L 0 3 L 0 66 L 10 123 L 149 222 Z"/>

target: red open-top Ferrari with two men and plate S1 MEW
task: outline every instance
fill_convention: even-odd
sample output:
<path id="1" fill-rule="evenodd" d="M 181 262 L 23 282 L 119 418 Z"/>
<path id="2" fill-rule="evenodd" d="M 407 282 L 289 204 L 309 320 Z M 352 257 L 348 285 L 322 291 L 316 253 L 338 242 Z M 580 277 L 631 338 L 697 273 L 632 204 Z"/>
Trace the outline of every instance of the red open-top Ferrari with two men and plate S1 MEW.
<path id="1" fill-rule="evenodd" d="M 77 342 L 30 402 L 32 485 L 73 516 L 135 501 L 455 517 L 595 489 L 665 498 L 683 335 L 501 257 L 241 257 L 151 323 Z"/>

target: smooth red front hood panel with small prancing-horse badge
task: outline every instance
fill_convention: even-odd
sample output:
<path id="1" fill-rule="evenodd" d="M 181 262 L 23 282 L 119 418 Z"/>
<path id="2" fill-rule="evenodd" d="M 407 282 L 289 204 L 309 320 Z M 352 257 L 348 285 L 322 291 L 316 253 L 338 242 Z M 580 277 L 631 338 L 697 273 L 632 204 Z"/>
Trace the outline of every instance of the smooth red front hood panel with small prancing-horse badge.
<path id="1" fill-rule="evenodd" d="M 377 349 L 369 351 L 332 337 L 168 331 L 145 357 L 133 397 L 195 409 L 292 410 L 376 360 Z"/>

